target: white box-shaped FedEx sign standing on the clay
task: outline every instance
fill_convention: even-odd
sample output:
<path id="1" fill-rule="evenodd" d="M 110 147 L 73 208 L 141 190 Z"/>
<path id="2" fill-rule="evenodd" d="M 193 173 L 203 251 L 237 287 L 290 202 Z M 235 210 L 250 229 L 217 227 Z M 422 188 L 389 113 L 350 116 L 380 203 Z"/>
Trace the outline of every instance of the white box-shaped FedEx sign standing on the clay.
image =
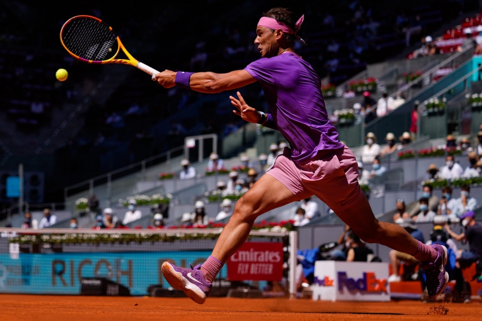
<path id="1" fill-rule="evenodd" d="M 388 263 L 316 261 L 313 300 L 390 301 Z"/>

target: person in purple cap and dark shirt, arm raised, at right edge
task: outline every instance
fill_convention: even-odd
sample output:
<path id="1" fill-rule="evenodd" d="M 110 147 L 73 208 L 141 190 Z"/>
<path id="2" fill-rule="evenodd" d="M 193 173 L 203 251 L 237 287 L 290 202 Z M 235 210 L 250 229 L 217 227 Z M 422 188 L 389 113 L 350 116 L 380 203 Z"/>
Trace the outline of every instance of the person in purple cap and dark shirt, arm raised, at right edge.
<path id="1" fill-rule="evenodd" d="M 445 230 L 455 240 L 467 240 L 469 243 L 469 251 L 463 251 L 460 255 L 460 261 L 465 266 L 470 265 L 472 262 L 477 262 L 482 258 L 482 226 L 475 222 L 475 213 L 473 211 L 467 211 L 460 217 L 462 225 L 465 228 L 465 232 L 462 234 L 454 233 L 448 224 L 445 224 Z M 480 276 L 481 262 L 477 264 L 477 276 Z"/>

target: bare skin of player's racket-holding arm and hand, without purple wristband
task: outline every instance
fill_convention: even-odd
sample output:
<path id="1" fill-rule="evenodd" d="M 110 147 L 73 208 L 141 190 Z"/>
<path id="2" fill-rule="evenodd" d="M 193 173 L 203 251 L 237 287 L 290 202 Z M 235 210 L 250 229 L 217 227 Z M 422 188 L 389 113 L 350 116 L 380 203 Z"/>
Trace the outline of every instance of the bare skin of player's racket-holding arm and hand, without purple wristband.
<path id="1" fill-rule="evenodd" d="M 164 88 L 176 85 L 178 72 L 165 70 L 154 75 L 155 80 Z M 195 72 L 189 79 L 189 88 L 201 93 L 215 94 L 225 90 L 237 89 L 256 82 L 246 70 L 235 70 L 228 73 Z"/>

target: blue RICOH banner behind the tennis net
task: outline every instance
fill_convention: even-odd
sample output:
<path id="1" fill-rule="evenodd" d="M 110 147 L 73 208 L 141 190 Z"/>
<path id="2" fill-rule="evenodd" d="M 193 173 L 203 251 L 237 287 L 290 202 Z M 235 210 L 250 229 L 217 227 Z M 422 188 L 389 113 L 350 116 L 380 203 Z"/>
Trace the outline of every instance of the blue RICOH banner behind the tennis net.
<path id="1" fill-rule="evenodd" d="M 78 295 L 81 278 L 104 277 L 147 295 L 152 284 L 163 284 L 161 265 L 204 262 L 210 251 L 0 254 L 0 293 Z M 220 272 L 226 278 L 226 268 Z"/>

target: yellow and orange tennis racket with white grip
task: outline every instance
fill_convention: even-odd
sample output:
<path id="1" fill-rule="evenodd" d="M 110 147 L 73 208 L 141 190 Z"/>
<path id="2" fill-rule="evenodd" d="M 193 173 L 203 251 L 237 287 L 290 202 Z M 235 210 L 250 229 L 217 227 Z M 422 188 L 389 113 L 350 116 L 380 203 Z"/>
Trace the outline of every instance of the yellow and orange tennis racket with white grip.
<path id="1" fill-rule="evenodd" d="M 112 27 L 96 17 L 70 18 L 62 26 L 60 41 L 70 56 L 89 64 L 124 64 L 137 67 L 150 75 L 158 73 L 132 57 Z M 115 59 L 120 49 L 128 59 Z"/>

